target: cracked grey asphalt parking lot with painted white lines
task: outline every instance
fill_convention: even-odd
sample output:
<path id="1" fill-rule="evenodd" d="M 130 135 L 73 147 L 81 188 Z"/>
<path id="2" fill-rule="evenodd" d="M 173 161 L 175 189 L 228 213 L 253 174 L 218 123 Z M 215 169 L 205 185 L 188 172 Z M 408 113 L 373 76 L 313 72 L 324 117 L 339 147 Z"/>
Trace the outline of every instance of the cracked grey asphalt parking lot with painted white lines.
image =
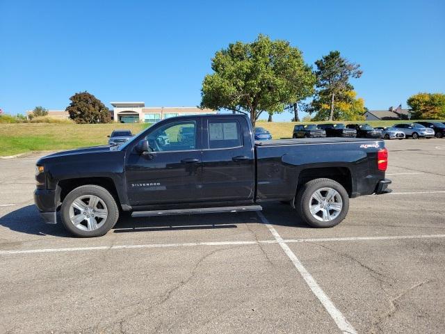
<path id="1" fill-rule="evenodd" d="M 0 160 L 0 333 L 444 333 L 445 139 L 387 141 L 393 193 L 308 228 L 261 214 L 45 225 L 38 156 Z"/>

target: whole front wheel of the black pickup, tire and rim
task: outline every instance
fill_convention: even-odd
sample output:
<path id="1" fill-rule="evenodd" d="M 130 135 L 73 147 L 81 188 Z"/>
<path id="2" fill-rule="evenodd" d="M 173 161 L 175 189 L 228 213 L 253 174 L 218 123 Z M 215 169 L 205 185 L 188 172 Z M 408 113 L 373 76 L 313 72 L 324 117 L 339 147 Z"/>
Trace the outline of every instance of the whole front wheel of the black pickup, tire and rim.
<path id="1" fill-rule="evenodd" d="M 91 200 L 95 204 L 89 207 Z M 68 193 L 60 208 L 60 215 L 65 228 L 76 237 L 101 237 L 118 221 L 119 208 L 108 190 L 88 184 Z"/>

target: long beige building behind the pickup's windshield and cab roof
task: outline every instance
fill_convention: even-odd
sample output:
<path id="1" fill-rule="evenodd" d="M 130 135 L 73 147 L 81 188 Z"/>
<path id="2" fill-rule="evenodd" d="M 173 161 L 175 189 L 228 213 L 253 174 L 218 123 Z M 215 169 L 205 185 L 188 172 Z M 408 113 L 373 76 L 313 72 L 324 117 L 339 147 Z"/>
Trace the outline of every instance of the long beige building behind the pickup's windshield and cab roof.
<path id="1" fill-rule="evenodd" d="M 199 109 L 196 106 L 145 106 L 145 102 L 110 102 L 113 106 L 112 118 L 115 122 L 153 123 L 165 118 L 186 115 L 217 113 L 212 109 Z"/>

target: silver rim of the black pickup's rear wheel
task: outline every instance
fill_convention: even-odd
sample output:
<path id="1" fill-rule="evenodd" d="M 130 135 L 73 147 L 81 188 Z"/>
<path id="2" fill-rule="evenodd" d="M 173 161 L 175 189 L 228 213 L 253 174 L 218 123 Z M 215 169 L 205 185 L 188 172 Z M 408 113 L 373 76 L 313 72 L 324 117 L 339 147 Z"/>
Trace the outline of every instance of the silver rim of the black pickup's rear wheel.
<path id="1" fill-rule="evenodd" d="M 318 221 L 333 221 L 343 209 L 343 200 L 335 189 L 317 189 L 309 200 L 309 212 Z"/>

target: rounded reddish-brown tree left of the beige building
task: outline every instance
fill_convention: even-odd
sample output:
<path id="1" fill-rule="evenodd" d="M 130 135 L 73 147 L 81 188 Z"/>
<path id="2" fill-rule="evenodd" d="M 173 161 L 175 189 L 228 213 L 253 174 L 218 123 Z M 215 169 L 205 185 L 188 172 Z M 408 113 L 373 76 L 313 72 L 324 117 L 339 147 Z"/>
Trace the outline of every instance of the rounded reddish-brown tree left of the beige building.
<path id="1" fill-rule="evenodd" d="M 110 110 L 95 95 L 88 92 L 76 93 L 65 109 L 76 123 L 96 124 L 111 122 Z"/>

